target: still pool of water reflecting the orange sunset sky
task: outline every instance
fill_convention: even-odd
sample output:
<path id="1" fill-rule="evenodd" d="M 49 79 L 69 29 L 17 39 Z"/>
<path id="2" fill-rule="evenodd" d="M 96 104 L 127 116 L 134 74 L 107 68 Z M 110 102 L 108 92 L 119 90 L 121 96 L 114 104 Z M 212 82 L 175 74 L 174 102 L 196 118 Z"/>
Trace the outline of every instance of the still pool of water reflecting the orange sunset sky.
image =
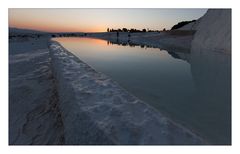
<path id="1" fill-rule="evenodd" d="M 209 144 L 231 143 L 229 55 L 174 53 L 92 38 L 54 40 Z"/>

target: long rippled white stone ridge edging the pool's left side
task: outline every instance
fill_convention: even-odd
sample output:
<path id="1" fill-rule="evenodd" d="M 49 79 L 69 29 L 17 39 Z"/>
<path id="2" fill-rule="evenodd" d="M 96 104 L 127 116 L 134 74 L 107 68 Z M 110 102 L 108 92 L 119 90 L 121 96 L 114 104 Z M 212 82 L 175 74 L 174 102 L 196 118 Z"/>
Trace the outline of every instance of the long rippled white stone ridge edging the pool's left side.
<path id="1" fill-rule="evenodd" d="M 65 144 L 204 144 L 59 43 L 49 49 Z"/>

